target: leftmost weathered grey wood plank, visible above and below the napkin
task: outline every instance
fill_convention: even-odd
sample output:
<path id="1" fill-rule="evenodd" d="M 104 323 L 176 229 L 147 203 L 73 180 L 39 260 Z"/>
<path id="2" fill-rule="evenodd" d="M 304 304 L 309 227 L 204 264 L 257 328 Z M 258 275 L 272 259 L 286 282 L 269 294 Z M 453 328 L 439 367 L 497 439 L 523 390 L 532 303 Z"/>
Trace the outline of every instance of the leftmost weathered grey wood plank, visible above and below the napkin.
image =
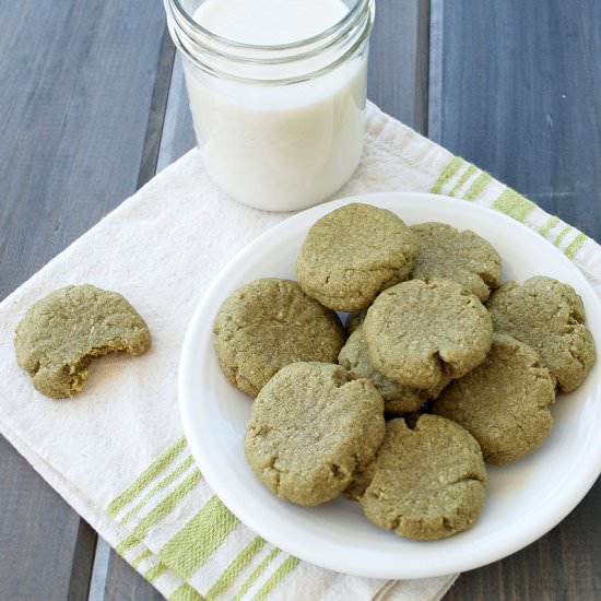
<path id="1" fill-rule="evenodd" d="M 158 0 L 2 7 L 0 297 L 134 191 L 163 31 Z M 3 439 L 0 464 L 2 599 L 84 599 L 95 534 Z"/>

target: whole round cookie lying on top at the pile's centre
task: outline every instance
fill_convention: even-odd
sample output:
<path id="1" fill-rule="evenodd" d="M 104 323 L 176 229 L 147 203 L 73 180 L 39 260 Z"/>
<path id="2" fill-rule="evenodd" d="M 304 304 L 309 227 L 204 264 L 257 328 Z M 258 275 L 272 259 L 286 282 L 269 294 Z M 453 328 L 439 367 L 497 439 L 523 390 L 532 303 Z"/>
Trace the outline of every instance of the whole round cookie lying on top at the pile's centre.
<path id="1" fill-rule="evenodd" d="M 363 335 L 380 374 L 413 388 L 435 388 L 484 361 L 493 325 L 478 297 L 459 284 L 411 280 L 376 298 Z"/>

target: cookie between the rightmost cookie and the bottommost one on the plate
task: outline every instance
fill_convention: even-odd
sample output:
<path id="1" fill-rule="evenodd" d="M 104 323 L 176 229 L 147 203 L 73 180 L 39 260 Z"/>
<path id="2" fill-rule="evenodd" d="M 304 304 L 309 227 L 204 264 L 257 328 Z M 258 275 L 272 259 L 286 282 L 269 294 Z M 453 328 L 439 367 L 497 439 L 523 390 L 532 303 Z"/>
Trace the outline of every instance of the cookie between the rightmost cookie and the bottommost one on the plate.
<path id="1" fill-rule="evenodd" d="M 549 436 L 555 384 L 527 344 L 495 334 L 484 363 L 451 382 L 434 412 L 468 429 L 484 459 L 503 466 L 521 459 Z"/>

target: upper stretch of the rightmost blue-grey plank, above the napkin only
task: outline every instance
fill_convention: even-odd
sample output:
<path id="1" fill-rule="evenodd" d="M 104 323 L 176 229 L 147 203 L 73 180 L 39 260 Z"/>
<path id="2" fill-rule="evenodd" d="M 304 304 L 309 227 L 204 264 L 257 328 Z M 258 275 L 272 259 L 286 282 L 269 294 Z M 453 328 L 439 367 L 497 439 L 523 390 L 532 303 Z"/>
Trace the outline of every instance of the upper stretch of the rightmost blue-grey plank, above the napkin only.
<path id="1" fill-rule="evenodd" d="M 434 0 L 429 106 L 434 140 L 597 239 L 600 23 L 598 0 Z"/>

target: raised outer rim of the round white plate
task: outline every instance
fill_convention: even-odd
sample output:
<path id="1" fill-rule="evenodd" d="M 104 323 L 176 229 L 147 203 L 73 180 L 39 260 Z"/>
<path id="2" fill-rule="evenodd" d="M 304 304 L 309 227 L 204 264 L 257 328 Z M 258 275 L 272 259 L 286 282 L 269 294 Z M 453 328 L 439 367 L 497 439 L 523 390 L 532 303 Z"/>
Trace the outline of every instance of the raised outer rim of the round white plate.
<path id="1" fill-rule="evenodd" d="M 252 252 L 252 250 L 256 247 L 262 246 L 266 239 L 273 236 L 274 234 L 278 234 L 280 229 L 287 229 L 290 227 L 294 227 L 296 222 L 305 221 L 308 214 L 311 214 L 311 213 L 315 214 L 317 220 L 322 214 L 326 214 L 331 210 L 349 204 L 351 202 L 362 202 L 366 204 L 372 204 L 374 202 L 381 201 L 381 200 L 385 200 L 385 201 L 397 200 L 402 203 L 402 200 L 406 198 L 411 198 L 411 199 L 422 198 L 424 200 L 429 200 L 429 201 L 434 199 L 436 201 L 440 201 L 447 204 L 463 207 L 463 208 L 464 208 L 464 203 L 467 202 L 462 199 L 457 199 L 457 198 L 447 197 L 443 195 L 433 195 L 429 192 L 406 192 L 406 191 L 375 192 L 375 193 L 356 195 L 352 197 L 335 199 L 322 204 L 315 205 L 310 209 L 300 211 L 298 213 L 291 215 L 287 219 L 284 219 L 282 222 L 268 228 L 266 232 L 257 236 L 257 238 L 255 238 L 249 244 L 247 244 L 241 249 L 239 249 L 220 269 L 220 272 L 217 273 L 217 275 L 215 275 L 212 279 L 212 281 L 203 292 L 202 296 L 197 302 L 196 308 L 192 313 L 192 317 L 188 323 L 184 344 L 181 346 L 179 364 L 178 364 L 178 379 L 177 379 L 178 408 L 179 408 L 180 421 L 184 428 L 184 434 L 186 436 L 187 443 L 192 452 L 196 464 L 199 467 L 201 473 L 203 474 L 203 478 L 209 483 L 213 493 L 222 500 L 222 503 L 227 507 L 227 509 L 229 509 L 240 520 L 241 523 L 247 526 L 256 534 L 259 534 L 260 537 L 271 542 L 279 549 L 290 553 L 291 555 L 298 557 L 299 559 L 306 561 L 314 565 L 318 565 L 326 569 L 331 569 L 343 574 L 368 577 L 368 578 L 409 579 L 409 578 L 435 577 L 435 576 L 443 576 L 455 571 L 466 571 L 468 569 L 474 569 L 474 568 L 487 565 L 490 563 L 493 563 L 495 561 L 502 559 L 512 553 L 518 552 L 519 550 L 523 549 L 528 544 L 531 544 L 532 542 L 537 541 L 538 539 L 546 534 L 552 528 L 558 525 L 563 519 L 565 519 L 565 517 L 569 512 L 571 512 L 574 508 L 581 502 L 581 499 L 585 497 L 588 491 L 592 487 L 592 485 L 599 478 L 599 474 L 601 473 L 601 445 L 599 445 L 599 447 L 597 448 L 597 453 L 592 453 L 588 456 L 589 461 L 584 464 L 585 468 L 587 469 L 582 468 L 582 463 L 580 463 L 578 466 L 578 469 L 574 470 L 573 473 L 577 472 L 581 474 L 584 472 L 584 475 L 580 475 L 575 481 L 577 485 L 570 487 L 571 494 L 568 496 L 568 499 L 565 500 L 561 505 L 561 507 L 558 507 L 557 504 L 555 504 L 554 511 L 543 512 L 543 516 L 545 516 L 545 519 L 541 520 L 539 518 L 538 520 L 534 520 L 534 523 L 539 525 L 538 528 L 531 527 L 526 531 L 526 533 L 522 533 L 521 537 L 516 538 L 511 541 L 507 541 L 503 545 L 493 546 L 493 551 L 481 553 L 476 558 L 474 558 L 471 555 L 469 557 L 460 557 L 460 558 L 456 557 L 453 562 L 453 567 L 450 570 L 446 569 L 444 571 L 440 571 L 439 569 L 432 569 L 429 566 L 423 566 L 421 569 L 413 570 L 411 574 L 404 573 L 402 569 L 394 570 L 394 574 L 391 574 L 391 571 L 388 569 L 376 568 L 376 569 L 365 570 L 365 569 L 362 569 L 362 566 L 360 565 L 353 565 L 352 567 L 347 567 L 346 565 L 342 565 L 340 561 L 337 561 L 337 557 L 325 556 L 323 553 L 321 553 L 318 559 L 316 559 L 315 550 L 313 554 L 310 553 L 307 554 L 303 544 L 298 545 L 295 543 L 295 541 L 282 540 L 276 533 L 274 534 L 273 530 L 263 527 L 263 520 L 254 519 L 252 516 L 249 518 L 249 516 L 244 511 L 243 503 L 239 503 L 236 498 L 233 498 L 233 496 L 228 493 L 228 491 L 226 491 L 222 486 L 221 481 L 217 478 L 214 478 L 213 469 L 210 462 L 205 461 L 204 456 L 202 453 L 201 445 L 198 438 L 192 433 L 192 417 L 191 417 L 192 402 L 190 399 L 191 394 L 188 394 L 189 390 L 186 382 L 187 382 L 187 376 L 188 376 L 187 366 L 191 364 L 192 357 L 193 357 L 193 343 L 195 343 L 193 333 L 199 327 L 199 321 L 201 317 L 207 311 L 207 308 L 208 308 L 207 306 L 211 304 L 211 297 L 214 291 L 219 290 L 220 284 L 222 283 L 223 273 L 226 272 L 232 264 L 238 262 L 241 257 L 246 256 L 248 252 Z M 576 278 L 581 281 L 582 286 L 587 287 L 588 291 L 591 293 L 593 303 L 597 305 L 597 311 L 601 315 L 601 298 L 596 293 L 591 283 L 582 273 L 582 271 L 578 268 L 578 266 L 576 266 L 569 258 L 567 258 L 557 247 L 551 244 L 547 239 L 537 234 L 535 231 L 531 229 L 526 224 L 520 223 L 515 219 L 504 213 L 500 213 L 492 208 L 483 207 L 479 204 L 472 204 L 470 207 L 470 210 L 481 212 L 483 215 L 494 216 L 495 220 L 504 221 L 511 227 L 517 227 L 518 231 L 526 233 L 526 235 L 528 235 L 531 238 L 537 237 L 535 239 L 538 244 L 542 244 L 543 246 L 546 246 L 546 248 L 549 248 L 550 251 L 559 261 L 564 262 L 564 264 L 566 266 L 569 266 L 569 268 L 574 271 Z M 598 358 L 598 361 L 600 360 Z M 599 399 L 599 394 L 597 396 L 597 399 Z M 594 460 L 597 460 L 597 467 L 593 467 Z"/>

